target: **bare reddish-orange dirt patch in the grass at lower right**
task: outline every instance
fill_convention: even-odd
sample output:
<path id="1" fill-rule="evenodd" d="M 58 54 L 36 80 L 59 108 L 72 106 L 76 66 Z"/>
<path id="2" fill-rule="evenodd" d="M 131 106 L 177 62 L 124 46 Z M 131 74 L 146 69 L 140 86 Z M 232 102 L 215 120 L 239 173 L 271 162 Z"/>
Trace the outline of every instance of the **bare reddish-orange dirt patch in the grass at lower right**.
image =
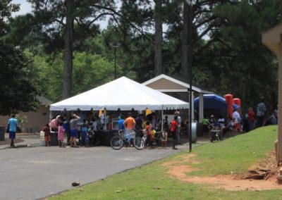
<path id="1" fill-rule="evenodd" d="M 197 183 L 208 184 L 211 187 L 217 189 L 227 190 L 265 190 L 265 189 L 282 189 L 282 185 L 278 185 L 276 177 L 278 175 L 278 168 L 276 167 L 275 154 L 271 153 L 267 158 L 260 161 L 256 165 L 252 166 L 243 175 L 216 175 L 215 177 L 197 177 L 190 176 L 187 173 L 196 171 L 190 165 L 183 165 L 185 161 L 191 161 L 192 163 L 198 163 L 195 159 L 191 159 L 195 154 L 189 154 L 188 156 L 182 156 L 181 161 L 170 161 L 164 163 L 168 167 L 168 174 L 176 177 L 178 180 Z M 255 172 L 269 172 L 264 180 L 246 179 L 247 176 L 254 174 Z"/>

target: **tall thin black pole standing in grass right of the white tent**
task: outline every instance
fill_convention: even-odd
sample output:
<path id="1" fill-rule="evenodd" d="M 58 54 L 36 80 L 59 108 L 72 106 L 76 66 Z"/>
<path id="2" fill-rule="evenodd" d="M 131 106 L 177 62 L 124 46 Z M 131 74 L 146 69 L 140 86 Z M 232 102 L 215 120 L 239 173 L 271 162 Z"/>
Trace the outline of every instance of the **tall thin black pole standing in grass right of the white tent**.
<path id="1" fill-rule="evenodd" d="M 192 0 L 186 0 L 189 5 L 189 54 L 188 54 L 188 73 L 189 73 L 189 152 L 192 151 Z"/>

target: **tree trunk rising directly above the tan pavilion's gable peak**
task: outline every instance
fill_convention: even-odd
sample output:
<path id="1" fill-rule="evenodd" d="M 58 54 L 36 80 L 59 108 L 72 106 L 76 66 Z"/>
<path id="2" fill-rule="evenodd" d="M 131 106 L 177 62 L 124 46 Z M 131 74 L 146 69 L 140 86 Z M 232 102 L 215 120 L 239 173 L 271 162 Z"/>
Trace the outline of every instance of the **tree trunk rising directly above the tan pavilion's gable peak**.
<path id="1" fill-rule="evenodd" d="M 162 27 L 162 0 L 156 0 L 154 9 L 154 22 L 155 22 L 155 36 L 154 36 L 154 75 L 162 73 L 161 49 L 163 40 L 163 27 Z"/>

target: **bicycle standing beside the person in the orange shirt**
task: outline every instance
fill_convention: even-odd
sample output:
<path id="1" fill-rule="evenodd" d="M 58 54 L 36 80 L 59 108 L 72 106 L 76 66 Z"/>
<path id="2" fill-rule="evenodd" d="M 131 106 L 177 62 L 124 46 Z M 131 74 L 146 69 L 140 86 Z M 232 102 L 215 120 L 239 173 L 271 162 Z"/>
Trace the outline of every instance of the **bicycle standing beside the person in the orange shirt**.
<path id="1" fill-rule="evenodd" d="M 118 135 L 115 135 L 111 138 L 111 148 L 119 150 L 123 148 L 124 144 L 129 146 L 131 142 L 138 150 L 142 150 L 145 147 L 144 141 L 142 138 L 136 137 L 134 130 L 119 130 Z"/>

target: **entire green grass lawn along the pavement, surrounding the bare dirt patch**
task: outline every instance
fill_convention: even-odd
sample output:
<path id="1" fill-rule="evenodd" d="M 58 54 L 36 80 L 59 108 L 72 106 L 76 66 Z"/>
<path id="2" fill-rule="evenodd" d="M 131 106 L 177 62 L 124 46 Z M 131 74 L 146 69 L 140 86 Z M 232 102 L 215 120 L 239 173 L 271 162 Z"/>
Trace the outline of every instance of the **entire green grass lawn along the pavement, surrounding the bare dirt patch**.
<path id="1" fill-rule="evenodd" d="M 192 149 L 200 163 L 183 161 L 200 169 L 189 175 L 212 176 L 243 173 L 251 165 L 274 151 L 277 126 L 262 127 L 222 142 L 204 144 Z M 157 151 L 157 150 L 155 150 Z M 104 180 L 71 189 L 49 199 L 282 199 L 282 190 L 228 191 L 203 184 L 182 182 L 168 175 L 162 163 L 183 159 L 188 151 L 149 165 L 112 175 Z M 182 163 L 182 164 L 183 164 Z"/>

